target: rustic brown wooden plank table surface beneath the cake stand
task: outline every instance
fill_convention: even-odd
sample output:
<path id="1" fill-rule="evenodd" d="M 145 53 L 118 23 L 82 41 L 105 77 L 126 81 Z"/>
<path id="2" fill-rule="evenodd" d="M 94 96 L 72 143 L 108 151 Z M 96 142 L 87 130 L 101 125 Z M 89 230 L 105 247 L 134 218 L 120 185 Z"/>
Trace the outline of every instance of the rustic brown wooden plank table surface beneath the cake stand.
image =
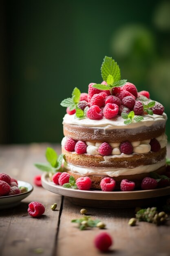
<path id="1" fill-rule="evenodd" d="M 33 184 L 33 177 L 41 171 L 33 166 L 45 162 L 49 144 L 0 146 L 0 172 Z M 60 146 L 53 145 L 60 153 Z M 170 157 L 170 146 L 168 146 Z M 28 204 L 41 202 L 46 211 L 40 218 L 28 215 Z M 51 204 L 57 203 L 52 211 Z M 152 205 L 151 205 L 152 207 Z M 93 245 L 101 230 L 80 231 L 71 219 L 80 218 L 83 207 L 71 204 L 67 198 L 34 186 L 28 198 L 18 207 L 0 210 L 0 256 L 96 256 L 102 255 Z M 97 209 L 86 207 L 88 213 L 106 223 L 113 237 L 110 255 L 114 256 L 168 256 L 170 255 L 170 222 L 157 227 L 139 222 L 130 227 L 128 220 L 135 216 L 134 209 Z"/>

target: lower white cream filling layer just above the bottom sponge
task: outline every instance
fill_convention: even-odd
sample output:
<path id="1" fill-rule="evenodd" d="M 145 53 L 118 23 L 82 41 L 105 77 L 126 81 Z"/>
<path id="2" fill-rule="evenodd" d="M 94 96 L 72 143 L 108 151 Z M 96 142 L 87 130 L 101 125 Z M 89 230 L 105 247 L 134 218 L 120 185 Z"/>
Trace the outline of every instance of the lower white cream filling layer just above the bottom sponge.
<path id="1" fill-rule="evenodd" d="M 166 159 L 155 164 L 137 166 L 135 168 L 88 168 L 84 166 L 75 166 L 73 164 L 64 163 L 64 167 L 73 173 L 86 175 L 107 175 L 110 177 L 118 177 L 121 175 L 135 175 L 140 173 L 149 173 L 157 170 L 166 164 Z"/>

